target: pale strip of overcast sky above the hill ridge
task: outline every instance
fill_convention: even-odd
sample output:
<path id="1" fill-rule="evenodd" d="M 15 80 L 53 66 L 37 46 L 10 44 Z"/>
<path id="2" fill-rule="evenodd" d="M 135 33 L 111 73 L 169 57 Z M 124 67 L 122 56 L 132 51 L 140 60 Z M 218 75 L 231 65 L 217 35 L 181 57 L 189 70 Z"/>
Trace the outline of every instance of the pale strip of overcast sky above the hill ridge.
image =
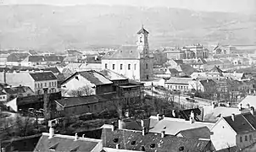
<path id="1" fill-rule="evenodd" d="M 108 4 L 143 7 L 165 6 L 203 11 L 256 12 L 256 0 L 0 0 L 2 4 Z"/>

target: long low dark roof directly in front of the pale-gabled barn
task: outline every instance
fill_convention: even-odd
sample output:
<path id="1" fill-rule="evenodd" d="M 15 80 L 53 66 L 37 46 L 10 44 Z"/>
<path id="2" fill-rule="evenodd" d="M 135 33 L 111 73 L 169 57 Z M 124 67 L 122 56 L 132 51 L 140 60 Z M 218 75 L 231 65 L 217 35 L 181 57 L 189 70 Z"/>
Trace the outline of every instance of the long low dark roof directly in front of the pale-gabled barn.
<path id="1" fill-rule="evenodd" d="M 98 95 L 87 95 L 82 97 L 64 97 L 60 100 L 56 100 L 58 104 L 64 107 L 68 106 L 80 106 L 87 105 L 92 103 L 97 103 L 100 101 L 105 101 L 106 99 L 98 96 Z"/>

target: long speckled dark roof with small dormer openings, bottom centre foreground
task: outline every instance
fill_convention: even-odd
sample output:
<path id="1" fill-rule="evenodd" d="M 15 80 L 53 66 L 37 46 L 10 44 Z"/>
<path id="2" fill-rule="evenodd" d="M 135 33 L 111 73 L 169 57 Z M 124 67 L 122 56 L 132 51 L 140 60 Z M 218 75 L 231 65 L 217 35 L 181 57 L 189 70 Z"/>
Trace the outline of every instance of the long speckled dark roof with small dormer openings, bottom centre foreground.
<path id="1" fill-rule="evenodd" d="M 205 149 L 209 144 L 209 140 L 198 140 L 193 138 L 180 138 L 170 135 L 161 137 L 160 133 L 145 133 L 142 135 L 142 131 L 133 131 L 126 129 L 116 129 L 114 131 L 111 128 L 103 128 L 103 147 L 115 148 L 116 144 L 119 144 L 120 149 L 132 149 L 142 150 L 147 152 L 153 151 L 187 151 L 198 152 Z"/>

